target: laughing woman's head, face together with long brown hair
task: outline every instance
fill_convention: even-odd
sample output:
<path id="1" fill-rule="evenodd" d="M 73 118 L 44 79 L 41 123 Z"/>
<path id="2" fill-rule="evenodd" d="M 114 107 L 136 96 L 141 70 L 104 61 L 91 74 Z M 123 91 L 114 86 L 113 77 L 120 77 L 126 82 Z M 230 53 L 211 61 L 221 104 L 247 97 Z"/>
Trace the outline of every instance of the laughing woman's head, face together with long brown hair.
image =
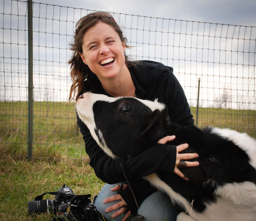
<path id="1" fill-rule="evenodd" d="M 121 28 L 116 24 L 111 14 L 107 12 L 88 14 L 77 22 L 76 34 L 71 43 L 73 56 L 69 60 L 73 81 L 69 95 L 70 101 L 74 99 L 75 94 L 76 99 L 78 99 L 82 92 L 94 91 L 101 85 L 97 77 L 100 76 L 99 71 L 103 69 L 102 65 L 104 65 L 104 70 L 111 69 L 111 72 L 113 67 L 122 69 L 132 65 L 125 54 L 125 49 L 128 47 L 126 42 L 127 39 L 123 36 Z M 101 55 L 98 55 L 99 53 Z M 107 63 L 109 62 L 112 62 L 113 65 L 108 66 Z M 100 65 L 101 67 L 96 68 Z M 96 71 L 96 69 L 98 70 Z"/>

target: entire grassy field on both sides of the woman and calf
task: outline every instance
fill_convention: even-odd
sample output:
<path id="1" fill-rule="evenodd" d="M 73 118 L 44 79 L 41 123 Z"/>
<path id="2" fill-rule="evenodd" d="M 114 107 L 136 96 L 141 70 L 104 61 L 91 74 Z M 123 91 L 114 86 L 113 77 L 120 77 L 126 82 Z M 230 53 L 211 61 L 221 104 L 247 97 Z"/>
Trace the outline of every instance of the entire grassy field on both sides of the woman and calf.
<path id="1" fill-rule="evenodd" d="M 196 118 L 196 108 L 191 108 Z M 256 137 L 255 111 L 199 108 L 198 126 L 230 127 Z M 35 102 L 33 160 L 27 161 L 27 103 L 0 102 L 0 221 L 48 221 L 28 215 L 28 201 L 66 184 L 97 195 L 104 183 L 89 166 L 73 103 Z M 46 195 L 44 199 L 52 199 Z"/>

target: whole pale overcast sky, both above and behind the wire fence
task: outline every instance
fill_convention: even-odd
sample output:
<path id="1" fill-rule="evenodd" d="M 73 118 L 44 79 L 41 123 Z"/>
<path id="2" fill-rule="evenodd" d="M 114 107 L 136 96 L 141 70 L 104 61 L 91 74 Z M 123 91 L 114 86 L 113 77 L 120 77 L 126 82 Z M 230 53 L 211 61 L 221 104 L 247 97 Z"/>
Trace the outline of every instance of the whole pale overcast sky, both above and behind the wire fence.
<path id="1" fill-rule="evenodd" d="M 2 52 L 4 52 L 4 56 L 1 57 L 0 52 L 0 73 L 3 68 L 5 68 L 5 73 L 12 73 L 12 75 L 2 75 L 2 78 L 5 78 L 5 85 L 1 87 L 0 85 L 0 100 L 15 100 L 16 98 L 18 100 L 26 99 L 26 78 L 25 78 L 25 72 L 23 73 L 21 70 L 24 70 L 24 68 L 16 67 L 15 62 L 17 63 L 17 59 L 9 59 L 12 57 L 15 57 L 17 55 L 17 50 L 19 50 L 19 59 L 23 61 L 22 59 L 25 56 L 26 49 L 23 44 L 23 37 L 21 33 L 19 34 L 19 39 L 17 38 L 17 34 L 15 32 L 15 29 L 17 28 L 17 16 L 15 16 L 16 10 L 15 7 L 13 9 L 8 9 L 7 7 L 10 4 L 11 0 L 5 0 L 5 35 L 2 35 L 5 37 L 6 44 L 5 48 L 2 49 Z M 212 38 L 204 38 L 202 41 L 202 33 L 200 33 L 200 36 L 197 36 L 197 38 L 193 38 L 189 40 L 190 35 L 186 35 L 187 37 L 187 44 L 191 43 L 191 52 L 188 51 L 188 54 L 185 56 L 185 42 L 184 42 L 184 36 L 181 35 L 179 37 L 175 37 L 171 41 L 173 43 L 173 46 L 175 47 L 169 47 L 168 51 L 166 47 L 161 47 L 159 49 L 159 45 L 156 47 L 154 46 L 154 42 L 152 43 L 152 47 L 150 47 L 150 53 L 149 46 L 147 46 L 147 43 L 145 42 L 145 45 L 141 44 L 142 36 L 140 36 L 140 33 L 137 35 L 137 33 L 132 33 L 132 31 L 128 31 L 125 33 L 126 37 L 130 38 L 136 38 L 135 40 L 131 40 L 131 42 L 139 42 L 136 45 L 136 49 L 133 49 L 133 51 L 128 52 L 128 54 L 135 56 L 135 59 L 147 59 L 152 60 L 152 58 L 168 58 L 169 62 L 165 60 L 156 59 L 156 61 L 159 61 L 161 63 L 164 63 L 168 66 L 174 67 L 175 74 L 179 73 L 178 80 L 180 83 L 184 86 L 185 94 L 188 99 L 190 100 L 190 105 L 195 106 L 195 101 L 197 98 L 197 80 L 198 78 L 201 78 L 201 85 L 204 85 L 204 90 L 201 90 L 201 94 L 205 94 L 205 97 L 202 97 L 203 101 L 206 101 L 206 106 L 209 107 L 209 101 L 215 101 L 215 99 L 218 100 L 218 96 L 221 96 L 223 94 L 224 89 L 228 89 L 230 92 L 230 95 L 233 97 L 233 101 L 235 102 L 235 106 L 232 106 L 232 108 L 245 108 L 245 106 L 248 104 L 249 109 L 256 109 L 256 98 L 255 98 L 255 85 L 256 85 L 256 79 L 251 78 L 252 75 L 255 75 L 255 36 L 256 36 L 256 28 L 245 28 L 245 27 L 239 27 L 239 26 L 254 26 L 256 27 L 256 0 L 33 0 L 33 2 L 38 3 L 44 3 L 44 4 L 50 4 L 50 5 L 59 5 L 63 7 L 71 7 L 71 8 L 83 8 L 83 9 L 89 9 L 89 10 L 99 10 L 99 11 L 108 11 L 116 13 L 116 16 L 118 13 L 123 14 L 129 14 L 129 15 L 138 15 L 138 16 L 148 16 L 148 17 L 158 17 L 158 18 L 164 18 L 164 19 L 176 19 L 176 20 L 183 20 L 183 21 L 199 21 L 202 22 L 208 22 L 213 24 L 203 24 L 204 25 L 204 31 L 206 35 L 210 35 L 210 31 L 207 34 L 207 30 L 209 29 L 208 26 L 212 26 L 212 30 L 216 31 L 216 34 L 220 37 L 220 31 L 223 32 L 223 35 L 225 35 L 225 32 L 227 32 L 227 36 L 229 36 L 229 39 L 225 39 L 222 36 L 223 40 L 220 40 L 220 38 L 217 38 L 213 41 Z M 13 6 L 16 5 L 16 2 L 14 2 Z M 39 4 L 36 4 L 36 7 L 38 7 Z M 26 10 L 26 4 L 21 2 L 19 3 L 20 11 L 21 8 L 23 10 Z M 58 8 L 58 7 L 57 7 Z M 62 28 L 60 23 L 52 22 L 52 24 L 55 24 L 58 26 L 55 30 L 55 37 L 53 35 L 45 35 L 43 33 L 47 28 L 50 28 L 47 32 L 51 33 L 52 31 L 52 24 L 50 19 L 43 19 L 43 10 L 45 9 L 45 5 L 42 6 L 42 18 L 39 19 L 38 14 L 35 15 L 34 22 L 34 71 L 37 73 L 34 75 L 34 91 L 35 94 L 40 96 L 39 98 L 35 98 L 37 101 L 38 99 L 53 99 L 53 100 L 59 100 L 64 99 L 66 101 L 68 97 L 68 91 L 69 87 L 67 85 L 67 76 L 69 76 L 69 66 L 66 66 L 66 62 L 69 57 L 69 50 L 66 50 L 66 44 L 70 42 L 70 39 L 66 39 L 66 35 L 62 33 Z M 52 7 L 48 7 L 48 13 L 51 13 Z M 36 8 L 34 8 L 35 12 L 38 13 L 38 10 L 36 11 Z M 14 13 L 13 19 L 10 19 L 7 14 Z M 57 10 L 58 11 L 58 10 Z M 72 11 L 72 10 L 71 10 Z M 77 10 L 79 12 L 79 10 Z M 74 16 L 72 14 L 74 13 Z M 76 19 L 78 20 L 80 18 L 80 12 L 79 14 L 76 14 L 76 12 L 72 11 L 71 15 L 72 18 L 70 21 L 76 22 Z M 84 13 L 85 11 L 83 11 Z M 25 12 L 23 12 L 25 13 Z M 49 16 L 49 15 L 48 15 Z M 58 13 L 56 13 L 56 16 L 58 16 Z M 65 13 L 64 13 L 65 16 Z M 131 16 L 127 16 L 131 17 Z M 150 19 L 150 20 L 156 20 L 156 19 Z M 47 23 L 48 21 L 48 23 Z M 15 23 L 16 22 L 16 23 Z M 153 21 L 152 21 L 153 22 Z M 171 21 L 173 22 L 173 21 Z M 176 26 L 178 27 L 178 23 Z M 12 38 L 9 36 L 9 32 L 7 31 L 8 24 L 12 24 Z M 37 28 L 42 29 L 40 32 Z M 49 27 L 46 25 L 50 25 Z M 73 22 L 67 23 L 69 25 L 68 28 L 63 28 L 64 32 L 66 30 L 69 30 L 69 38 L 73 35 Z M 220 25 L 214 25 L 214 24 L 228 24 L 228 25 L 236 25 L 229 27 L 227 31 L 227 26 L 220 26 Z M 21 22 L 19 23 L 21 25 Z M 62 23 L 63 25 L 63 23 Z M 181 25 L 181 24 L 180 24 Z M 184 27 L 191 29 L 191 22 L 184 22 Z M 202 28 L 199 24 L 194 24 L 194 30 L 196 30 L 198 25 L 198 30 Z M 199 27 L 200 26 L 200 27 Z M 208 29 L 207 29 L 207 27 Z M 66 27 L 66 25 L 65 25 Z M 160 26 L 161 27 L 161 26 Z M 183 28 L 184 28 L 183 27 Z M 190 28 L 189 28 L 190 27 Z M 205 28 L 206 27 L 206 28 Z M 21 27 L 21 30 L 24 28 Z M 232 33 L 232 30 L 234 29 L 234 34 L 230 35 L 230 31 Z M 248 31 L 245 31 L 245 29 Z M 3 29 L 2 29 L 3 30 Z M 201 29 L 200 29 L 201 30 Z M 209 29 L 210 30 L 210 29 Z M 238 30 L 238 31 L 237 31 Z M 56 33 L 62 33 L 64 36 L 64 39 L 59 37 L 61 35 L 57 35 Z M 183 30 L 184 31 L 184 30 Z M 191 31 L 191 30 L 190 30 Z M 135 31 L 136 32 L 136 31 Z M 173 31 L 174 33 L 174 31 Z M 183 32 L 182 32 L 183 33 Z M 229 34 L 228 34 L 229 33 Z M 239 34 L 238 34 L 239 33 Z M 251 33 L 251 34 L 250 34 Z M 211 33 L 212 35 L 213 33 Z M 145 36 L 143 39 L 146 39 L 156 41 L 156 42 L 162 42 L 166 40 L 166 36 L 162 35 L 159 37 L 160 39 L 154 36 L 154 32 L 152 32 L 152 35 L 148 36 L 149 32 L 145 33 Z M 177 35 L 177 33 L 175 34 Z M 236 38 L 238 35 L 244 35 L 246 38 L 250 38 L 251 41 L 248 40 L 237 40 Z M 247 36 L 249 35 L 249 36 Z M 47 40 L 46 40 L 47 36 Z M 233 36 L 230 38 L 230 36 Z M 137 39 L 138 38 L 138 39 Z M 174 37 L 173 37 L 174 38 Z M 191 37 L 192 38 L 192 37 Z M 169 39 L 169 38 L 168 38 Z M 168 40 L 167 39 L 167 40 Z M 180 39 L 182 39 L 182 42 L 179 42 Z M 1 39 L 0 39 L 1 40 Z M 178 40 L 178 42 L 176 42 Z M 10 41 L 12 41 L 13 44 L 9 44 Z M 64 41 L 64 42 L 63 42 Z M 195 42 L 194 42 L 195 41 Z M 202 41 L 202 42 L 201 42 Z M 47 42 L 47 45 L 46 45 Z M 143 41 L 144 42 L 144 41 Z M 211 45 L 211 50 L 207 50 L 206 47 L 203 47 L 203 43 Z M 19 44 L 17 44 L 19 43 Z M 178 45 L 176 43 L 179 43 Z M 194 51 L 195 45 L 199 44 L 199 49 L 197 51 Z M 61 45 L 59 46 L 61 49 L 61 52 L 56 49 L 51 49 L 51 45 Z M 18 46 L 19 45 L 19 46 Z M 39 47 L 40 45 L 40 47 Z M 167 45 L 161 44 L 161 45 Z M 194 46 L 193 46 L 194 45 Z M 57 47 L 56 46 L 56 47 Z M 134 46 L 134 45 L 132 45 Z M 180 50 L 179 46 L 182 47 Z M 3 46 L 2 46 L 3 47 Z M 143 50 L 142 50 L 143 47 Z M 216 48 L 215 48 L 216 47 Z M 242 47 L 242 48 L 241 48 Z M 168 48 L 168 47 L 167 47 Z M 206 49 L 203 49 L 206 48 Z M 236 49 L 237 48 L 237 49 Z M 145 49 L 145 50 L 144 50 Z M 189 45 L 187 45 L 187 49 L 190 50 Z M 216 49 L 216 50 L 214 50 Z M 178 52 L 177 52 L 178 50 Z M 226 53 L 225 50 L 228 52 Z M 232 54 L 230 54 L 232 51 Z M 236 51 L 244 51 L 246 53 L 236 53 Z M 250 53 L 248 53 L 250 51 Z M 141 53 L 142 52 L 142 53 Z M 143 53 L 145 52 L 146 57 L 143 57 Z M 184 52 L 184 53 L 183 53 Z M 214 52 L 214 53 L 213 53 Z M 57 54 L 56 54 L 57 53 Z M 160 53 L 160 54 L 159 54 Z M 163 53 L 163 54 L 161 54 Z M 166 55 L 168 53 L 168 56 Z M 196 53 L 196 54 L 195 54 Z M 147 55 L 148 54 L 148 55 Z M 174 56 L 175 54 L 175 56 Z M 242 55 L 241 55 L 242 54 Z M 56 56 L 55 56 L 56 55 Z M 139 57 L 137 57 L 139 56 Z M 148 57 L 147 57 L 148 56 Z M 5 57 L 5 59 L 3 59 Z M 53 59 L 54 58 L 54 59 Z M 194 63 L 194 59 L 197 58 L 197 64 Z M 1 60 L 2 59 L 2 60 Z M 51 62 L 51 59 L 55 61 L 55 63 Z M 207 59 L 207 62 L 205 62 Z M 191 60 L 191 63 L 187 63 Z M 217 62 L 219 60 L 219 62 Z M 237 60 L 237 61 L 235 61 Z M 3 65 L 3 62 L 5 62 L 5 65 Z M 40 62 L 39 62 L 40 61 Z M 55 65 L 61 61 L 62 66 Z M 185 62 L 186 61 L 186 62 Z M 203 62 L 204 61 L 204 62 Z M 209 65 L 208 64 L 209 61 Z M 223 62 L 228 64 L 223 64 Z M 14 62 L 14 63 L 13 63 Z M 56 63 L 57 62 L 57 63 Z M 167 63 L 166 63 L 167 62 Z M 241 65 L 231 65 L 231 63 L 237 63 L 237 64 L 243 64 Z M 8 63 L 8 64 L 7 64 Z M 19 62 L 18 62 L 19 63 Z M 204 63 L 204 65 L 203 65 Z M 2 66 L 1 66 L 2 65 Z M 9 66 L 8 66 L 9 65 Z M 242 67 L 242 69 L 241 69 Z M 57 68 L 57 69 L 56 69 Z M 9 71 L 9 72 L 8 72 Z M 46 75 L 47 73 L 47 75 Z M 189 75 L 187 75 L 189 73 Z M 207 73 L 207 75 L 206 75 Z M 19 78 L 17 78 L 17 75 L 19 75 Z M 188 77 L 189 76 L 189 77 Z M 233 77 L 237 76 L 237 78 L 234 78 L 237 82 L 234 82 Z M 242 81 L 241 78 L 243 77 Z M 2 80 L 2 78 L 0 80 Z M 56 80 L 56 79 L 57 80 Z M 3 80 L 2 80 L 3 81 Z M 15 85 L 16 84 L 16 85 Z M 20 86 L 24 85 L 24 86 Z M 65 85 L 65 86 L 64 86 Z M 232 85 L 232 86 L 230 86 Z M 14 87 L 17 86 L 17 87 Z M 212 87 L 214 86 L 213 90 Z M 20 98 L 17 97 L 17 94 L 20 93 Z M 63 94 L 65 93 L 65 94 Z M 52 96 L 53 95 L 53 96 Z M 228 94 L 229 95 L 229 94 Z M 49 98 L 51 96 L 51 98 Z M 21 98 L 22 97 L 22 98 Z M 24 97 L 24 98 L 23 98 Z M 217 98 L 216 98 L 217 97 Z M 3 98 L 3 99 L 2 99 Z M 241 101 L 242 100 L 242 101 Z M 52 101 L 52 100 L 51 100 Z M 202 101 L 201 106 L 204 106 Z M 241 102 L 240 102 L 241 101 Z M 240 103 L 242 103 L 242 106 L 238 106 Z M 211 104 L 212 105 L 212 104 Z M 230 104 L 233 105 L 233 104 Z M 254 106 L 251 106 L 254 105 Z"/>

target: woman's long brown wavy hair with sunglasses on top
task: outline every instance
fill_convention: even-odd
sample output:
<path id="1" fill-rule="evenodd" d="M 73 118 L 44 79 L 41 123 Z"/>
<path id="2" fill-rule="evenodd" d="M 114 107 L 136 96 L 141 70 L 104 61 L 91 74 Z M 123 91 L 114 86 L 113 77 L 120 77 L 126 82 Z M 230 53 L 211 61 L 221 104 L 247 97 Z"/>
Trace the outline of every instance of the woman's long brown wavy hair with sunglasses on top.
<path id="1" fill-rule="evenodd" d="M 119 25 L 116 24 L 115 20 L 110 16 L 106 16 L 107 12 L 94 12 L 86 15 L 81 19 L 79 25 L 76 25 L 76 33 L 73 38 L 73 42 L 70 44 L 70 49 L 73 51 L 69 64 L 71 64 L 71 80 L 72 85 L 69 93 L 69 101 L 72 101 L 76 96 L 75 100 L 84 93 L 91 91 L 93 92 L 96 88 L 100 86 L 100 80 L 97 76 L 92 73 L 90 68 L 83 63 L 79 53 L 83 53 L 83 36 L 89 28 L 92 28 L 99 22 L 108 24 L 114 28 L 116 33 L 118 33 L 121 42 L 127 42 L 127 39 L 123 36 L 123 32 Z M 129 47 L 126 45 L 126 47 Z M 131 61 L 128 61 L 128 57 L 125 54 L 126 65 L 130 66 Z"/>

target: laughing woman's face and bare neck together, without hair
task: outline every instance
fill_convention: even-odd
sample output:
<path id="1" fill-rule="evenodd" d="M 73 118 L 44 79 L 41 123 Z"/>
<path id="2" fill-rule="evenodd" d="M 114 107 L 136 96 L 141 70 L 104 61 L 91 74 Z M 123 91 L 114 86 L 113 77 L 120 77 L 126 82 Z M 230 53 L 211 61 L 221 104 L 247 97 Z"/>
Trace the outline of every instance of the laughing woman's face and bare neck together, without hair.
<path id="1" fill-rule="evenodd" d="M 114 28 L 103 22 L 89 28 L 83 37 L 83 52 L 79 53 L 83 63 L 97 76 L 105 91 L 113 96 L 119 96 L 120 87 L 125 89 L 124 96 L 135 96 L 135 87 L 125 64 L 125 49 L 125 42 L 121 42 Z M 130 87 L 123 87 L 127 84 Z"/>

